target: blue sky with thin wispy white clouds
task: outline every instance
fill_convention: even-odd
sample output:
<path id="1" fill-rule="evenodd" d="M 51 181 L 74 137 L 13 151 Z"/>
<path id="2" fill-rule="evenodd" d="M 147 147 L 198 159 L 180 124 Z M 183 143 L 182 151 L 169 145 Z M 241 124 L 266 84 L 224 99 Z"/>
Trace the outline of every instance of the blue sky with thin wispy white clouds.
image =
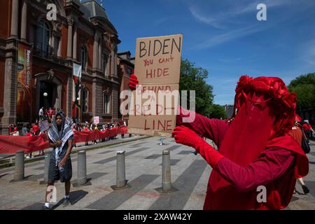
<path id="1" fill-rule="evenodd" d="M 104 0 L 122 41 L 135 52 L 136 38 L 183 34 L 183 58 L 209 71 L 214 103 L 233 104 L 239 76 L 290 80 L 315 72 L 314 0 Z M 258 21 L 258 3 L 267 21 Z"/>

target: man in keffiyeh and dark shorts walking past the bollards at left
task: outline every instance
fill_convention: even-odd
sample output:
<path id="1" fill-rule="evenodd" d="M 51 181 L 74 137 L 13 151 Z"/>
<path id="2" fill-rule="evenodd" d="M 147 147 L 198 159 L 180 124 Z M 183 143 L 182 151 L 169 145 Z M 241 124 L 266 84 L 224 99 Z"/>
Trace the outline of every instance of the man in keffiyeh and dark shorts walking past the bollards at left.
<path id="1" fill-rule="evenodd" d="M 73 131 L 66 122 L 63 112 L 58 112 L 48 130 L 50 147 L 54 148 L 50 156 L 50 165 L 48 171 L 48 190 L 46 191 L 44 209 L 49 209 L 50 190 L 55 181 L 60 180 L 65 186 L 64 206 L 69 204 L 69 192 L 71 186 L 72 167 L 70 153 L 72 150 Z"/>

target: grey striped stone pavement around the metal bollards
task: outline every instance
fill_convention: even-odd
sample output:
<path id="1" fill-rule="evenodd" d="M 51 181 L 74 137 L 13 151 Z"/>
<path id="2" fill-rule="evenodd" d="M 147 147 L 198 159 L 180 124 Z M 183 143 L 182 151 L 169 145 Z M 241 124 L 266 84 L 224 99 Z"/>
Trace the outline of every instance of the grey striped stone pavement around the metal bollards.
<path id="1" fill-rule="evenodd" d="M 211 167 L 193 148 L 165 139 L 141 139 L 118 146 L 87 151 L 87 179 L 85 186 L 71 186 L 71 204 L 68 207 L 55 203 L 54 209 L 202 209 Z M 309 175 L 304 178 L 310 189 L 297 193 L 287 209 L 315 209 L 315 143 L 309 157 Z M 172 193 L 160 193 L 162 184 L 162 151 L 168 149 L 172 165 Z M 116 185 L 116 151 L 126 151 L 127 188 L 113 190 Z M 77 155 L 71 155 L 73 178 L 77 177 Z M 13 170 L 0 169 L 0 209 L 41 209 L 45 199 L 43 180 L 44 162 L 34 162 L 25 167 L 25 180 L 14 182 Z M 11 167 L 12 169 L 12 167 Z M 57 201 L 64 196 L 64 184 L 56 183 Z"/>

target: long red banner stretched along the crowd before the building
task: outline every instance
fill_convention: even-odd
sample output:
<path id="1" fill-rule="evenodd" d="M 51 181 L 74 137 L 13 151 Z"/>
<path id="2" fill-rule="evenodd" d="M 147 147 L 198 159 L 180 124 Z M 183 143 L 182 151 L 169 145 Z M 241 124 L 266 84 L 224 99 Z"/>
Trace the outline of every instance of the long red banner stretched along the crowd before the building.
<path id="1" fill-rule="evenodd" d="M 127 127 L 113 127 L 105 131 L 87 131 L 87 132 L 74 132 L 74 143 L 94 141 L 97 139 L 105 139 L 114 137 L 118 134 L 127 134 Z M 16 151 L 25 151 L 30 153 L 34 151 L 43 150 L 49 147 L 48 137 L 45 134 L 38 136 L 3 136 L 0 135 L 0 153 L 15 153 Z"/>

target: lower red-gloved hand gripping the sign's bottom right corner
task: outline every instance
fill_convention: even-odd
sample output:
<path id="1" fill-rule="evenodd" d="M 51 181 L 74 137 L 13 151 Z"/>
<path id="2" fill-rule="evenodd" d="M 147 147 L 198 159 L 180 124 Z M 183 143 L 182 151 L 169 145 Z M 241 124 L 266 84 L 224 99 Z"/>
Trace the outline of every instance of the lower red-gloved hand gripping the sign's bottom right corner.
<path id="1" fill-rule="evenodd" d="M 196 148 L 195 146 L 197 142 L 200 141 L 200 139 L 202 140 L 202 138 L 200 138 L 196 132 L 183 125 L 174 128 L 172 137 L 174 137 L 176 143 L 191 146 L 193 148 Z"/>

